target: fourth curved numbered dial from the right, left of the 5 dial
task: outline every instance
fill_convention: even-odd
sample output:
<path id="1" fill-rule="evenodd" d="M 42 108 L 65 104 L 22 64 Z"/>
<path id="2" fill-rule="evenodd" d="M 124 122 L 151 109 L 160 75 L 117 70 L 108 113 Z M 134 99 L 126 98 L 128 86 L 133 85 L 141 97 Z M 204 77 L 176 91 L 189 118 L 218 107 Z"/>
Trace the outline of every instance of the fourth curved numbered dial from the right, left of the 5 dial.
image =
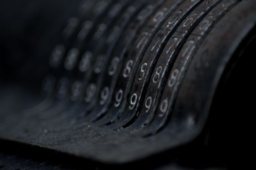
<path id="1" fill-rule="evenodd" d="M 120 88 L 120 84 L 118 83 L 118 76 L 123 74 L 122 68 L 127 68 L 126 72 L 129 72 L 129 67 L 133 62 L 128 62 L 125 64 L 125 59 L 127 52 L 132 50 L 133 44 L 135 43 L 136 37 L 139 34 L 139 31 L 144 27 L 144 24 L 146 24 L 149 20 L 149 18 L 153 15 L 153 12 L 158 8 L 158 6 L 162 4 L 162 1 L 156 2 L 154 0 L 149 1 L 148 4 L 140 9 L 138 14 L 134 17 L 134 19 L 129 24 L 129 27 L 124 31 L 124 34 L 121 35 L 122 41 L 118 42 L 118 46 L 113 52 L 113 56 L 118 58 L 119 65 L 118 69 L 116 70 L 114 75 L 105 74 L 105 79 L 103 82 L 104 84 L 108 85 L 110 87 L 110 98 L 109 102 L 106 102 L 106 104 L 103 106 L 103 109 L 98 112 L 96 119 L 106 112 L 106 116 L 103 117 L 100 121 L 98 121 L 98 124 L 111 124 L 114 122 L 118 117 L 118 110 L 121 106 L 121 103 L 123 102 L 124 97 L 124 91 Z M 124 66 L 125 64 L 125 66 Z M 126 73 L 127 74 L 127 73 Z M 116 91 L 114 91 L 116 90 Z"/>

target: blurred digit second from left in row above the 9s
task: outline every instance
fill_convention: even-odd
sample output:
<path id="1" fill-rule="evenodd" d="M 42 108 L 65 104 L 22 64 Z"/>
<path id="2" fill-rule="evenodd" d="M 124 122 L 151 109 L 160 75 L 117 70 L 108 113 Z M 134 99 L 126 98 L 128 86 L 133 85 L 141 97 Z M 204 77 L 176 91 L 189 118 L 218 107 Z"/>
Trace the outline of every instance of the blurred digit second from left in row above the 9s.
<path id="1" fill-rule="evenodd" d="M 68 52 L 67 58 L 65 59 L 65 68 L 66 70 L 72 70 L 77 63 L 77 59 L 79 56 L 79 50 L 78 49 L 71 49 Z"/>

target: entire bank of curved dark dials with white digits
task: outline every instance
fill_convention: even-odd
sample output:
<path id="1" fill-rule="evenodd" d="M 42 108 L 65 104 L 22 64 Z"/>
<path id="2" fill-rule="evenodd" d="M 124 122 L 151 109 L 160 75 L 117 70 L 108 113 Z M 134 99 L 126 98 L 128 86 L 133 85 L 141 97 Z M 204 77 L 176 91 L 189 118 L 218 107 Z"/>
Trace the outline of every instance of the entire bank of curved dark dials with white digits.
<path id="1" fill-rule="evenodd" d="M 50 55 L 43 108 L 113 130 L 155 134 L 186 68 L 239 0 L 85 0 Z M 56 110 L 56 105 L 62 105 Z M 54 107 L 53 107 L 54 105 Z"/>

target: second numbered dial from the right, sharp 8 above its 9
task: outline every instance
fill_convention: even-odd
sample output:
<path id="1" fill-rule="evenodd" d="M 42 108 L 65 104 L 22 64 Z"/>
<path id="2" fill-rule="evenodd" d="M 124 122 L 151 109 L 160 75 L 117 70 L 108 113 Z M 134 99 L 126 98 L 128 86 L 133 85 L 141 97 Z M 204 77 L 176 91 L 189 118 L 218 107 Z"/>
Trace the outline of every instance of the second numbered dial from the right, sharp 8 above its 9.
<path id="1" fill-rule="evenodd" d="M 166 74 L 169 73 L 170 68 L 172 71 L 170 73 L 170 78 L 167 84 L 173 86 L 177 83 L 177 77 L 180 73 L 180 68 L 172 68 L 173 63 L 177 63 L 177 53 L 181 53 L 181 55 L 185 56 L 193 48 L 195 48 L 193 40 L 190 40 L 185 44 L 184 42 L 187 41 L 187 37 L 190 35 L 194 28 L 193 26 L 195 26 L 197 22 L 199 22 L 205 15 L 207 15 L 207 13 L 209 13 L 211 9 L 214 8 L 218 1 L 219 0 L 206 0 L 202 3 L 197 3 L 198 6 L 196 6 L 196 8 L 193 9 L 193 11 L 189 13 L 189 15 L 184 18 L 184 20 L 182 20 L 176 32 L 171 36 L 169 44 L 164 50 L 165 54 L 161 55 L 153 72 L 148 91 L 145 95 L 145 100 L 142 104 L 141 112 L 137 121 L 134 123 L 135 129 L 140 129 L 144 126 L 147 126 L 147 124 L 149 124 L 154 118 L 155 110 L 159 102 L 158 91 L 161 92 L 161 87 L 165 84 L 164 77 L 166 77 Z M 200 37 L 198 39 L 200 39 Z M 180 48 L 182 48 L 181 51 L 179 51 Z M 163 61 L 167 62 L 164 63 Z"/>

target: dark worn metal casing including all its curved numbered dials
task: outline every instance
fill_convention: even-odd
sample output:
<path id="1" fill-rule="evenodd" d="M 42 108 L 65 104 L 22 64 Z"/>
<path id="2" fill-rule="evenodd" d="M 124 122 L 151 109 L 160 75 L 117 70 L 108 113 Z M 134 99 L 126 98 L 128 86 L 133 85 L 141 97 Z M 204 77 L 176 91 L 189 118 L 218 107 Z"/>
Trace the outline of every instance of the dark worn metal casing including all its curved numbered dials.
<path id="1" fill-rule="evenodd" d="M 119 164 L 204 134 L 221 77 L 254 33 L 256 1 L 78 2 L 64 31 L 49 25 L 49 57 L 27 60 L 45 67 L 39 78 L 17 68 L 33 88 L 3 79 L 0 138 Z"/>

